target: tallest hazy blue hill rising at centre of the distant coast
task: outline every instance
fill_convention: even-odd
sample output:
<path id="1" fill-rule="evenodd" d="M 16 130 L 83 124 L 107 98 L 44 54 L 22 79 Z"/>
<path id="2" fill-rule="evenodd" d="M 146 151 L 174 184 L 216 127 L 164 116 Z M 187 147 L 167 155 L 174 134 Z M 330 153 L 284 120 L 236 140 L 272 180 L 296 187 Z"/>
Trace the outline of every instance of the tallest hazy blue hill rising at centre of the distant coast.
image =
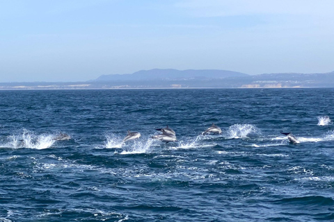
<path id="1" fill-rule="evenodd" d="M 116 74 L 102 75 L 93 82 L 100 81 L 124 81 L 124 80 L 190 80 L 190 79 L 220 79 L 228 77 L 245 77 L 248 74 L 243 74 L 237 71 L 226 71 L 218 69 L 150 69 L 136 71 L 134 74 Z"/>

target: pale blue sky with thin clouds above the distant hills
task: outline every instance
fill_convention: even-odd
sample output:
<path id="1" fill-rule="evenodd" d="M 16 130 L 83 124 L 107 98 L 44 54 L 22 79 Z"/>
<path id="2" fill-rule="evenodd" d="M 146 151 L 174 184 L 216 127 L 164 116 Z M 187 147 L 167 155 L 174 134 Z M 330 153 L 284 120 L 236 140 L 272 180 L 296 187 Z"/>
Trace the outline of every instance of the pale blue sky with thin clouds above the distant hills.
<path id="1" fill-rule="evenodd" d="M 0 0 L 0 82 L 334 71 L 332 0 Z"/>

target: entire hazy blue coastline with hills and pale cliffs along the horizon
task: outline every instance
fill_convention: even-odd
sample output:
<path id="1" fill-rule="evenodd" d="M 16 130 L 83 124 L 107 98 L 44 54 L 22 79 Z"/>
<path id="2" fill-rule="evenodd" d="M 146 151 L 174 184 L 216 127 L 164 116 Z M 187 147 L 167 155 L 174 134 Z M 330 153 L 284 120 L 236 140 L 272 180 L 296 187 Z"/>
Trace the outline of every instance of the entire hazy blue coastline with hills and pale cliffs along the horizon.
<path id="1" fill-rule="evenodd" d="M 325 74 L 260 74 L 250 76 L 217 69 L 150 69 L 134 74 L 102 75 L 77 83 L 0 83 L 0 89 L 129 89 L 129 88 L 280 88 L 334 87 L 334 71 Z"/>

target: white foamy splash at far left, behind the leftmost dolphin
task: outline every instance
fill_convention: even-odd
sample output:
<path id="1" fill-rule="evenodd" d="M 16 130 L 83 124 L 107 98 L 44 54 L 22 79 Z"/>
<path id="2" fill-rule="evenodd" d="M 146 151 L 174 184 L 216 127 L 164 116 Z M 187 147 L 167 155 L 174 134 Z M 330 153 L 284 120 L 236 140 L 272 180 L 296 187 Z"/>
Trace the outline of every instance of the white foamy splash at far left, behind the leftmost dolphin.
<path id="1" fill-rule="evenodd" d="M 35 135 L 28 130 L 24 130 L 22 135 L 10 135 L 5 139 L 3 144 L 0 144 L 2 148 L 35 148 L 44 149 L 49 148 L 56 142 L 54 135 Z"/>

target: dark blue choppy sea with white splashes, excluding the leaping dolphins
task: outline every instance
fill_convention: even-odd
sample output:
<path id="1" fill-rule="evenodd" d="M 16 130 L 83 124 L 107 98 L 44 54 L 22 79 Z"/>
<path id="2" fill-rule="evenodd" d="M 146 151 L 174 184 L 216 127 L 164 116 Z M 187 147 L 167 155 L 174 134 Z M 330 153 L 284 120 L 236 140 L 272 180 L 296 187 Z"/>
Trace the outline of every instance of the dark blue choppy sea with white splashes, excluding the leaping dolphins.
<path id="1" fill-rule="evenodd" d="M 334 221 L 333 100 L 334 89 L 0 91 L 0 221 Z M 200 135 L 212 123 L 223 133 Z M 178 142 L 150 139 L 166 124 Z M 141 137 L 122 144 L 127 130 Z"/>

